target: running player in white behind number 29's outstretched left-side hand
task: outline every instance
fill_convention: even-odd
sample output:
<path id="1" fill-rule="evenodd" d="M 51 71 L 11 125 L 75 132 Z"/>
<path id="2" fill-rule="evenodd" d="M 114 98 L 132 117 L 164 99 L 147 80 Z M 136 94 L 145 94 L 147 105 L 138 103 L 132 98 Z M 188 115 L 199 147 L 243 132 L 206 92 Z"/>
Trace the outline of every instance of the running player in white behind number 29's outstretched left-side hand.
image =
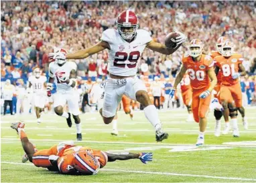
<path id="1" fill-rule="evenodd" d="M 58 49 L 66 55 L 65 49 Z M 72 126 L 70 113 L 74 118 L 76 124 L 76 140 L 82 140 L 82 129 L 80 123 L 79 110 L 79 95 L 78 91 L 74 89 L 76 86 L 76 63 L 66 61 L 66 59 L 55 59 L 49 65 L 49 81 L 47 83 L 47 95 L 51 96 L 52 85 L 55 82 L 57 92 L 54 95 L 54 112 L 58 116 L 66 118 L 68 126 Z M 63 107 L 68 103 L 70 113 L 64 112 Z"/>

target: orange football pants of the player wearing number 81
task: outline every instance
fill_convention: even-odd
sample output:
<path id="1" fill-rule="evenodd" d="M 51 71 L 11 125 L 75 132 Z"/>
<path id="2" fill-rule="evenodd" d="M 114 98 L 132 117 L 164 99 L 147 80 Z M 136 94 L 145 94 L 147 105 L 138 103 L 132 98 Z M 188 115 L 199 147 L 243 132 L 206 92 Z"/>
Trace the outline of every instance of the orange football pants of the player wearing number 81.
<path id="1" fill-rule="evenodd" d="M 232 103 L 235 101 L 237 108 L 242 107 L 242 90 L 240 83 L 234 85 L 221 85 L 220 87 L 220 101 Z"/>

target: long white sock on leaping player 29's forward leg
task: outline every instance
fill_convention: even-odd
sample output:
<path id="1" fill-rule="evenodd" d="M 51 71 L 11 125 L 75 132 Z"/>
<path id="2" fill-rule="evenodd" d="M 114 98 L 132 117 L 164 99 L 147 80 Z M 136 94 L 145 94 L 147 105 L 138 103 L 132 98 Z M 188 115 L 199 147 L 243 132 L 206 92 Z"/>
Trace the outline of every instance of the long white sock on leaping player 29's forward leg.
<path id="1" fill-rule="evenodd" d="M 162 130 L 162 124 L 160 123 L 158 112 L 153 105 L 149 105 L 144 108 L 144 114 L 147 120 L 151 123 L 151 125 L 155 128 L 155 131 Z"/>

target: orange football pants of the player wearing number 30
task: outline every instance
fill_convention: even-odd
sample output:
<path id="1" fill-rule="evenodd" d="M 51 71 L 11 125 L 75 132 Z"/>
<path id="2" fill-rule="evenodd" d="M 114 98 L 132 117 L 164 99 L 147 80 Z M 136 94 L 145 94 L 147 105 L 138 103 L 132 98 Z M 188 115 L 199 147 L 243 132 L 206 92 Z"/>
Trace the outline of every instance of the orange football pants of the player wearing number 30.
<path id="1" fill-rule="evenodd" d="M 192 112 L 195 122 L 199 123 L 200 118 L 205 118 L 206 113 L 208 112 L 210 106 L 211 95 L 208 95 L 207 98 L 199 98 L 202 92 L 206 91 L 207 88 L 203 89 L 193 89 L 192 91 Z"/>

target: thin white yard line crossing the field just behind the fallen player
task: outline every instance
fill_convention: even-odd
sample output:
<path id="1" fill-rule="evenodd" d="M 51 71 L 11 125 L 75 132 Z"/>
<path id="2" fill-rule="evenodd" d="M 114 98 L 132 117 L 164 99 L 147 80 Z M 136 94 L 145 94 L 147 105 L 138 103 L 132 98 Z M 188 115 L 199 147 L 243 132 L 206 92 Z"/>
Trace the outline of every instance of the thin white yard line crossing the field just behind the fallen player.
<path id="1" fill-rule="evenodd" d="M 1 138 L 1 140 L 17 140 L 20 141 L 19 138 Z M 54 139 L 29 139 L 30 141 L 39 141 L 39 142 L 64 142 L 66 140 L 54 140 Z M 195 144 L 166 144 L 166 143 L 149 143 L 149 142 L 108 142 L 108 141 L 93 141 L 93 140 L 82 140 L 82 141 L 74 141 L 76 143 L 95 143 L 95 144 L 133 144 L 133 145 L 155 145 L 155 146 L 196 146 Z M 209 144 L 204 145 L 203 147 L 241 147 L 241 148 L 256 148 L 256 146 L 245 146 L 245 145 L 227 145 L 227 144 Z"/>

